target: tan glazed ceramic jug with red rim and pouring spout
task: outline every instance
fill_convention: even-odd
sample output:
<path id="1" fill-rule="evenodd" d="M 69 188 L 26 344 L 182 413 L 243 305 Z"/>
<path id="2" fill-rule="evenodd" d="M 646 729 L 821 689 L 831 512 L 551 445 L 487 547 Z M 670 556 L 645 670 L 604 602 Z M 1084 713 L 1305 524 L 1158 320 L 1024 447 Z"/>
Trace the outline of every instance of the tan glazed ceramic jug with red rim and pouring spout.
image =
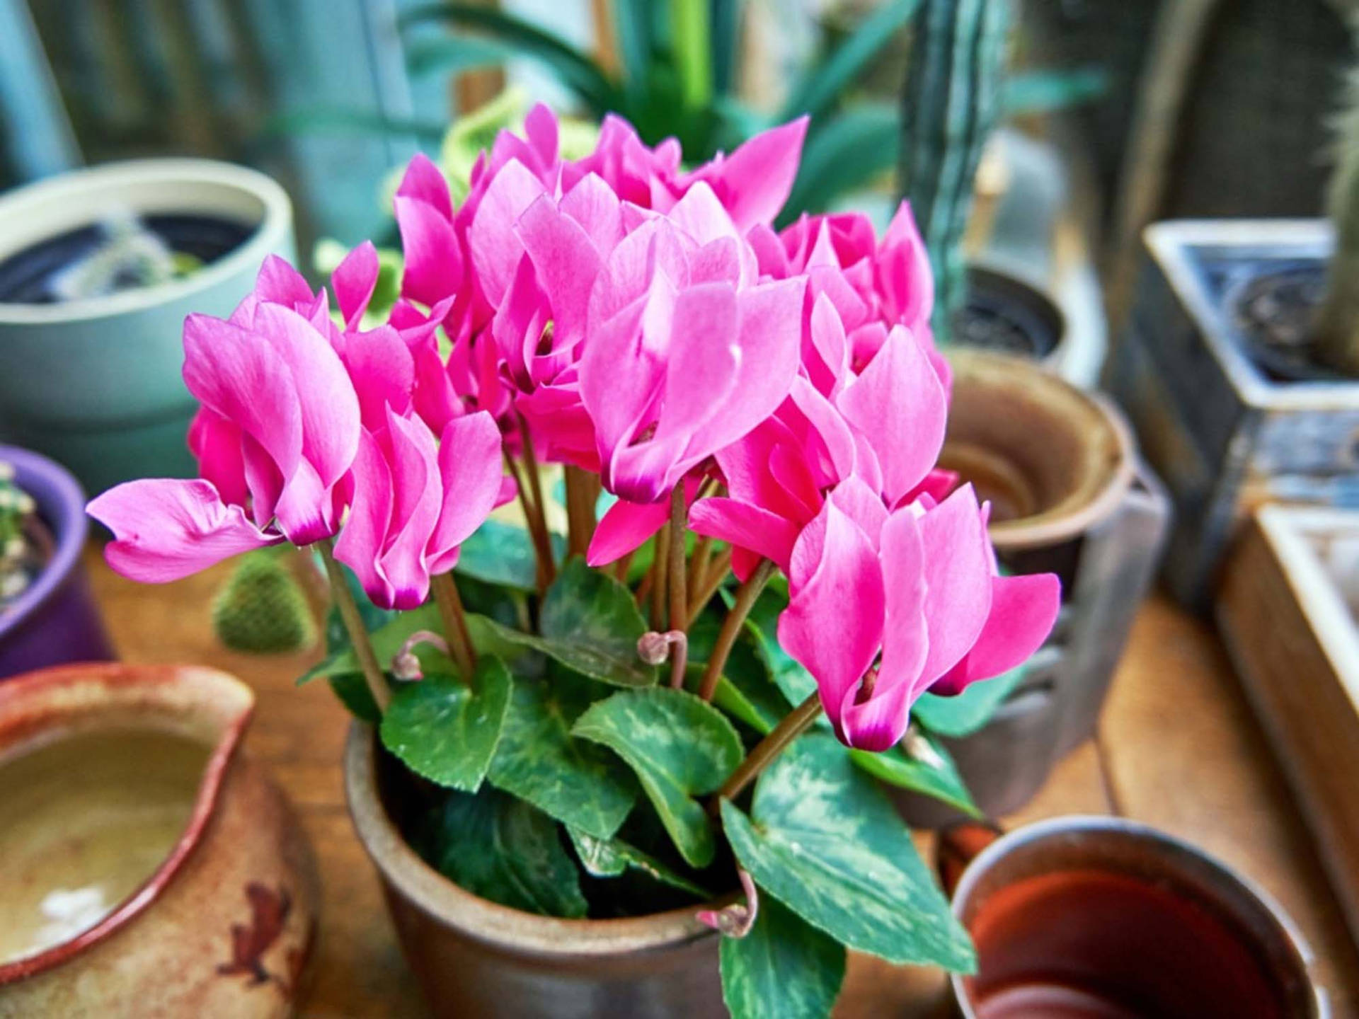
<path id="1" fill-rule="evenodd" d="M 0 686 L 0 1016 L 292 1014 L 319 893 L 253 705 L 186 666 Z"/>

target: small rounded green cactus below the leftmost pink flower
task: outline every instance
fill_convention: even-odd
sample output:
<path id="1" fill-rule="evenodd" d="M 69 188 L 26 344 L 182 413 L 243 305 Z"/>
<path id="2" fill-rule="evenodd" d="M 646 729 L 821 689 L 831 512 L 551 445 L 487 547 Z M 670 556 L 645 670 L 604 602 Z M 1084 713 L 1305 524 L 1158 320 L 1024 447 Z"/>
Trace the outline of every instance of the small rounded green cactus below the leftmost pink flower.
<path id="1" fill-rule="evenodd" d="M 270 550 L 242 557 L 212 603 L 212 626 L 226 647 L 287 654 L 317 641 L 317 622 L 296 577 Z"/>

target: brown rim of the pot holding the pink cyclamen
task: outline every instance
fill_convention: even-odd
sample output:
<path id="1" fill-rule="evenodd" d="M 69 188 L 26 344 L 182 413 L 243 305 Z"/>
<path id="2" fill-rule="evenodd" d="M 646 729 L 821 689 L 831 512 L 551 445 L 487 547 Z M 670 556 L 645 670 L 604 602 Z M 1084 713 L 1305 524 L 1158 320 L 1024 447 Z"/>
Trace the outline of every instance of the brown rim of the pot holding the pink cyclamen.
<path id="1" fill-rule="evenodd" d="M 565 920 L 501 906 L 458 887 L 420 859 L 387 815 L 378 796 L 376 746 L 374 728 L 355 720 L 344 749 L 349 817 L 389 890 L 432 920 L 503 951 L 559 959 L 644 952 L 718 936 L 699 921 L 700 906 L 643 917 Z"/>

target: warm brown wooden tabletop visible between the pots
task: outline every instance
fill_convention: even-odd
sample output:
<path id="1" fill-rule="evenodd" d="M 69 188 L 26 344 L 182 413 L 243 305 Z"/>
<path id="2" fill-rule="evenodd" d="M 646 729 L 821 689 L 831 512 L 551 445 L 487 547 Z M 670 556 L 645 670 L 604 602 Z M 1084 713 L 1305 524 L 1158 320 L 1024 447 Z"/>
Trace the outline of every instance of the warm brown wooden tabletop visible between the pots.
<path id="1" fill-rule="evenodd" d="M 427 1015 L 345 811 L 340 751 L 348 716 L 325 683 L 294 685 L 315 652 L 257 658 L 223 649 L 208 606 L 224 567 L 145 587 L 116 576 L 92 549 L 88 562 L 124 659 L 216 666 L 258 696 L 247 753 L 269 764 L 296 804 L 325 889 L 315 982 L 302 1015 Z M 1359 954 L 1260 727 L 1212 630 L 1162 596 L 1137 617 L 1099 738 L 1059 765 L 1006 825 L 1057 814 L 1135 818 L 1254 879 L 1310 942 L 1337 1019 L 1359 1016 Z M 938 973 L 852 957 L 836 1015 L 930 1015 L 940 988 Z"/>

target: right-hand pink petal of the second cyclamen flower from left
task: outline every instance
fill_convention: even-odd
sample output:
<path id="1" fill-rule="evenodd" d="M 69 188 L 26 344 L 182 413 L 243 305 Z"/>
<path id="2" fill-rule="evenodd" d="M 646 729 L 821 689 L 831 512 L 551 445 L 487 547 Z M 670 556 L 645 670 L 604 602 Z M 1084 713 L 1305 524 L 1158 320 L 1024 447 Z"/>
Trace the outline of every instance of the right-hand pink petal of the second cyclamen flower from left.
<path id="1" fill-rule="evenodd" d="M 439 439 L 443 507 L 429 538 L 431 573 L 446 573 L 458 561 L 458 546 L 485 523 L 501 500 L 504 476 L 500 429 L 485 410 L 448 423 Z M 508 480 L 514 485 L 512 480 Z M 512 489 L 511 489 L 512 492 Z"/>

